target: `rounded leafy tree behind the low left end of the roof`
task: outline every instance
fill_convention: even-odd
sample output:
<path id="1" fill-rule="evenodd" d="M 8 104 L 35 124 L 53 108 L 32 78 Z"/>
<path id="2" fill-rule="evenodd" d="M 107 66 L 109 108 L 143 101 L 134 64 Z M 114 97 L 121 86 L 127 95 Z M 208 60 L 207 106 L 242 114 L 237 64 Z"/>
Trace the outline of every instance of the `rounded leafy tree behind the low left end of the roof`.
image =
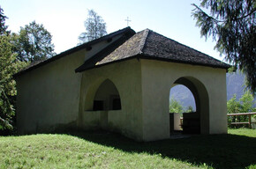
<path id="1" fill-rule="evenodd" d="M 18 37 L 14 42 L 20 61 L 37 62 L 56 55 L 51 34 L 35 21 L 20 27 Z"/>

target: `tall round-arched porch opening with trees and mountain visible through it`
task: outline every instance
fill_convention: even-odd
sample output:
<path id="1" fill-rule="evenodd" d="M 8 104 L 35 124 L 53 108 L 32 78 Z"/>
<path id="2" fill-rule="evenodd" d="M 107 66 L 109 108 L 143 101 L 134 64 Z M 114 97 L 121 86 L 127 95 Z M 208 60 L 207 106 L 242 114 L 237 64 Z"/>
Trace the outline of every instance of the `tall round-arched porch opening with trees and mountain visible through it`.
<path id="1" fill-rule="evenodd" d="M 199 80 L 193 77 L 178 78 L 172 84 L 169 96 L 170 133 L 208 133 L 207 90 Z"/>

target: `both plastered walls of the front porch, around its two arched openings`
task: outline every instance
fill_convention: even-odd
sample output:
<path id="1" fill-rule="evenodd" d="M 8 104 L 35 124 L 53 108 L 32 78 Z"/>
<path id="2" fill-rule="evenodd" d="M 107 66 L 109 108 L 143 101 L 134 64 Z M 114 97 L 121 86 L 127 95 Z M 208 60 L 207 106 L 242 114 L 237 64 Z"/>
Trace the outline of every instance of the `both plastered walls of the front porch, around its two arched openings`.
<path id="1" fill-rule="evenodd" d="M 82 73 L 79 126 L 91 129 L 98 124 L 138 141 L 169 138 L 169 91 L 185 77 L 199 91 L 201 133 L 227 133 L 225 74 L 222 69 L 144 59 L 87 70 Z M 94 95 L 106 79 L 116 85 L 122 110 L 91 111 Z"/>

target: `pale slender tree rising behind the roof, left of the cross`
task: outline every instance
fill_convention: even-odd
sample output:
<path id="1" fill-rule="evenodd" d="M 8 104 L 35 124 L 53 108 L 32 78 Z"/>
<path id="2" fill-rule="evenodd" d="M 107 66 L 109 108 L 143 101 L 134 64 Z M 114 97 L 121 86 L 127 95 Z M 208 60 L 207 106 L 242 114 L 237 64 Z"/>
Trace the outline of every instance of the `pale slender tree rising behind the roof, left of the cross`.
<path id="1" fill-rule="evenodd" d="M 84 25 L 87 31 L 79 35 L 79 44 L 95 40 L 107 34 L 106 23 L 94 10 L 88 11 L 88 17 Z"/>

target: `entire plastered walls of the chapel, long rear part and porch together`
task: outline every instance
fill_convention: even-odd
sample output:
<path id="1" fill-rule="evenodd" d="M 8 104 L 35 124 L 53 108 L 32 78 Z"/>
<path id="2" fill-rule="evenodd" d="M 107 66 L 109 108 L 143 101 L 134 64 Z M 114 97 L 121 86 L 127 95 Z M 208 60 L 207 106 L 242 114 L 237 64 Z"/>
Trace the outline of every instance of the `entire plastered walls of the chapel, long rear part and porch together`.
<path id="1" fill-rule="evenodd" d="M 227 133 L 226 70 L 130 59 L 75 73 L 86 53 L 80 50 L 17 78 L 20 134 L 45 132 L 61 124 L 108 129 L 137 141 L 167 139 L 169 91 L 175 82 L 186 81 L 198 94 L 200 133 Z M 95 95 L 106 80 L 115 84 L 121 110 L 93 110 Z"/>

